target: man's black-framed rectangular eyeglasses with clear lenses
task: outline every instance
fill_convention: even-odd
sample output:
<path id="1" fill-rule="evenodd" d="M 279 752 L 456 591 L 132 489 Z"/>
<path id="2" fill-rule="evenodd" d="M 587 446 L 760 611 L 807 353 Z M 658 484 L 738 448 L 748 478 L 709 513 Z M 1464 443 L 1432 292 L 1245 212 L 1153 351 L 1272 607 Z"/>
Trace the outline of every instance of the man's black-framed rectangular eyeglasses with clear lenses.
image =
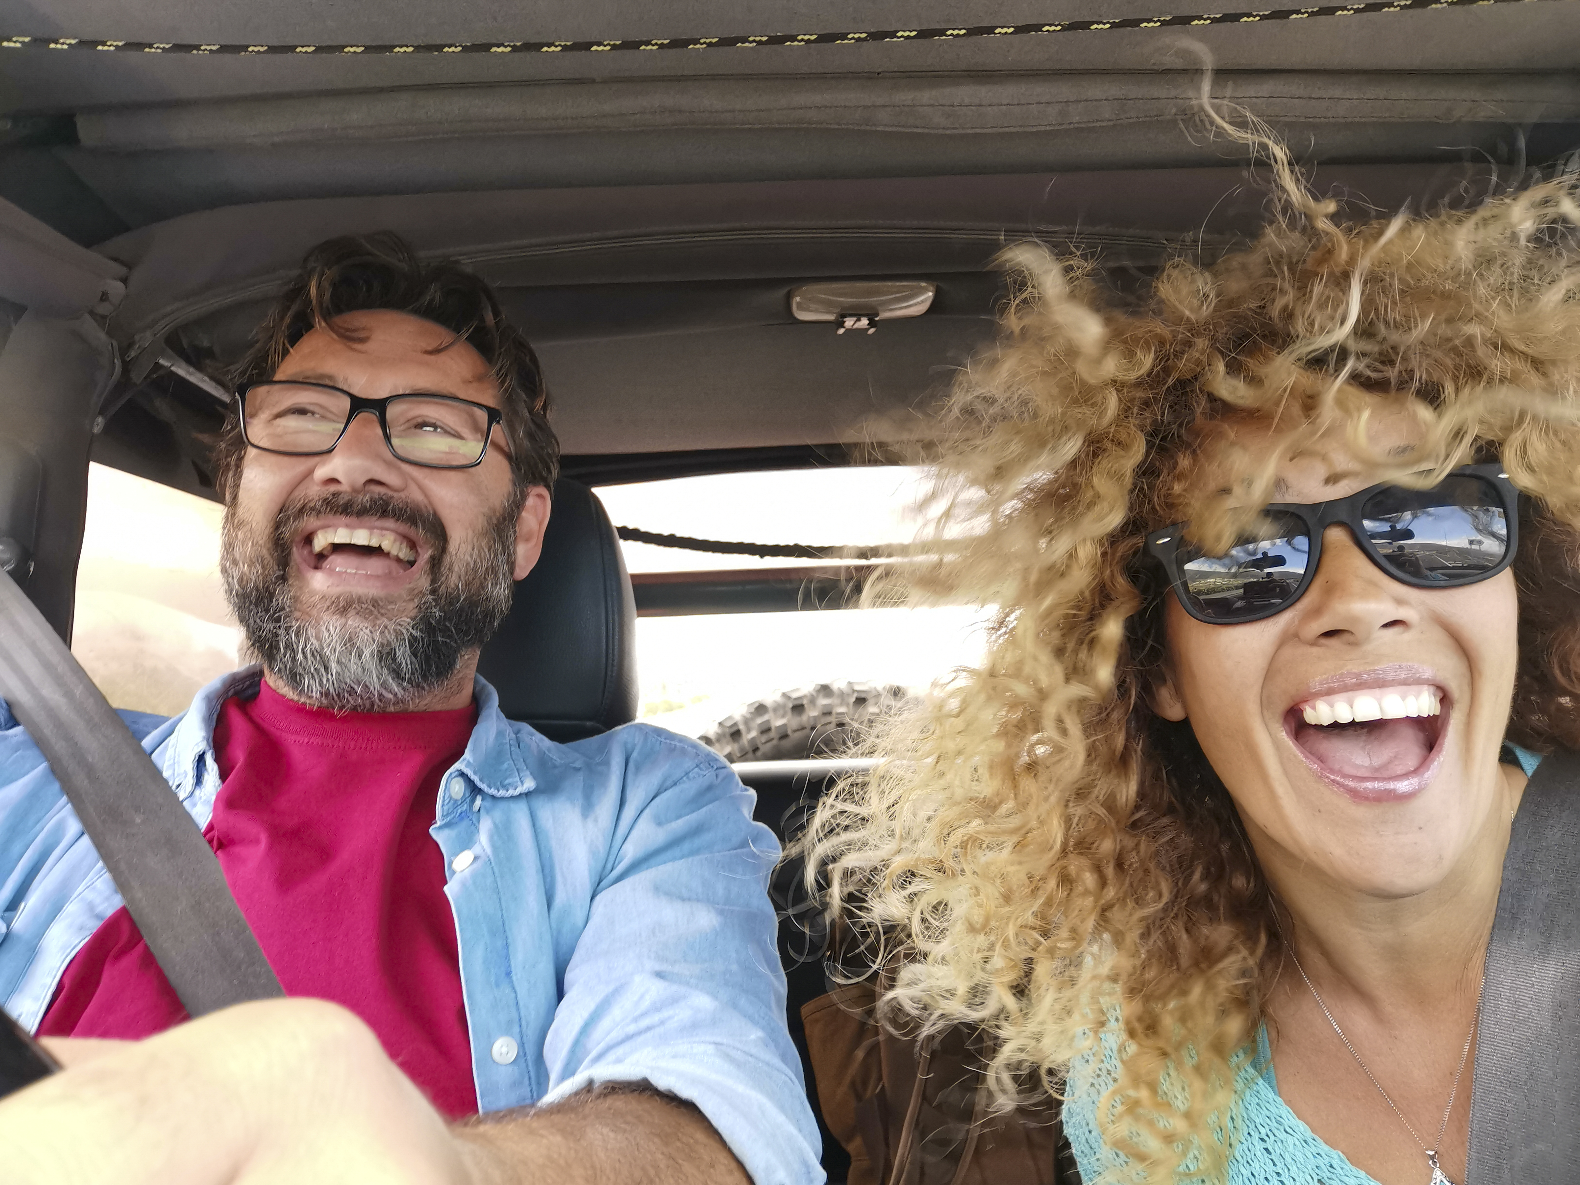
<path id="1" fill-rule="evenodd" d="M 430 469 L 469 469 L 488 453 L 501 412 L 453 395 L 387 395 L 365 400 L 327 382 L 269 379 L 250 382 L 235 398 L 242 438 L 254 449 L 288 457 L 333 452 L 362 412 L 373 412 L 390 452 Z"/>

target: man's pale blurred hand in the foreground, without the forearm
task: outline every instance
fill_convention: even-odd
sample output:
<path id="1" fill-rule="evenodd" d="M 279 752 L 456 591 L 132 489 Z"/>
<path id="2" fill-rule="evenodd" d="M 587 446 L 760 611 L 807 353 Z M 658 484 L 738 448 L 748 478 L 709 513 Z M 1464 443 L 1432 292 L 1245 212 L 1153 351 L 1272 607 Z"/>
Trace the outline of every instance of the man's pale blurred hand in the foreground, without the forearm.
<path id="1" fill-rule="evenodd" d="M 0 1103 L 0 1185 L 472 1185 L 378 1038 L 316 1000 L 79 1060 Z"/>

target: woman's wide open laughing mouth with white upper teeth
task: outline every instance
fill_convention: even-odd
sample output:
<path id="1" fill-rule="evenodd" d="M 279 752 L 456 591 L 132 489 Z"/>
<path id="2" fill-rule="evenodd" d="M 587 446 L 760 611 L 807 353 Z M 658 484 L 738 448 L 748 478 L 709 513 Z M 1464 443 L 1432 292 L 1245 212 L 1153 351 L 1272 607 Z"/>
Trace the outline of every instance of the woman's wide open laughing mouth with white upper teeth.
<path id="1" fill-rule="evenodd" d="M 1296 703 L 1285 713 L 1285 732 L 1329 785 L 1362 801 L 1389 801 L 1431 782 L 1449 708 L 1431 684 L 1357 687 Z"/>

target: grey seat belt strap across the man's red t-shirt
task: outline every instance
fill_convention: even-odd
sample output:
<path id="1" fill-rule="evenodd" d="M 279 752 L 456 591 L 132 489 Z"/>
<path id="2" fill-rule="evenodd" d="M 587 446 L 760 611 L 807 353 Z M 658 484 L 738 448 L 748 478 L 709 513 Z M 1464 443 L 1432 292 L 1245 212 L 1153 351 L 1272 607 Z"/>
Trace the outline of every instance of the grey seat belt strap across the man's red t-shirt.
<path id="1" fill-rule="evenodd" d="M 0 697 L 43 750 L 188 1014 L 284 995 L 202 831 L 3 570 Z"/>

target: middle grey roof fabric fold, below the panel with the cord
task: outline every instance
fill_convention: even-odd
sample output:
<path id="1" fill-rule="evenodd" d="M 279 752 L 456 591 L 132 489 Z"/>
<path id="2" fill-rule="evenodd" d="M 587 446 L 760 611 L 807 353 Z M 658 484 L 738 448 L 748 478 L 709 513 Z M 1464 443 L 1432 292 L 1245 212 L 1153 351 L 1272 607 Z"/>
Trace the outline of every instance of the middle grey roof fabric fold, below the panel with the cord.
<path id="1" fill-rule="evenodd" d="M 79 112 L 92 152 L 280 147 L 449 136 L 708 128 L 1046 131 L 1191 115 L 1179 73 L 992 73 L 623 79 L 423 87 L 149 104 Z M 1220 73 L 1215 92 L 1266 120 L 1533 122 L 1580 118 L 1580 74 Z"/>

